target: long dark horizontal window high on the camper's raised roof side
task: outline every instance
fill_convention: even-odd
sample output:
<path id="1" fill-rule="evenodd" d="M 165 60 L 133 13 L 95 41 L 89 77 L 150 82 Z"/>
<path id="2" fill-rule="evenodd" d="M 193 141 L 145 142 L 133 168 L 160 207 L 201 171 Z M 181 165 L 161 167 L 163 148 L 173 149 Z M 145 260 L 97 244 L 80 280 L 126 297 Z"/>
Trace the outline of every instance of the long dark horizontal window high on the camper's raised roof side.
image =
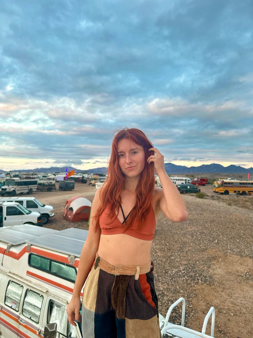
<path id="1" fill-rule="evenodd" d="M 66 281 L 75 282 L 77 271 L 74 266 L 63 264 L 52 259 L 29 254 L 28 264 L 36 269 L 46 271 Z"/>

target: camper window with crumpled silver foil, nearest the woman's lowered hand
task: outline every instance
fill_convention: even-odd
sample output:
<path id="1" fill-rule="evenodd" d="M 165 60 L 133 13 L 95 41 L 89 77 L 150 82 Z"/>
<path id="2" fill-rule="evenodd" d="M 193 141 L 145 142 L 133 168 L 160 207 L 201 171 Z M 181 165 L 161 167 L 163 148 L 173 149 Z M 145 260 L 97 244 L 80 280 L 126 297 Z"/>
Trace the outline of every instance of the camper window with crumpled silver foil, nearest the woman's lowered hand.
<path id="1" fill-rule="evenodd" d="M 54 300 L 50 300 L 49 303 L 48 323 L 56 323 L 57 331 L 64 336 L 77 338 L 75 327 L 67 320 L 66 307 Z"/>

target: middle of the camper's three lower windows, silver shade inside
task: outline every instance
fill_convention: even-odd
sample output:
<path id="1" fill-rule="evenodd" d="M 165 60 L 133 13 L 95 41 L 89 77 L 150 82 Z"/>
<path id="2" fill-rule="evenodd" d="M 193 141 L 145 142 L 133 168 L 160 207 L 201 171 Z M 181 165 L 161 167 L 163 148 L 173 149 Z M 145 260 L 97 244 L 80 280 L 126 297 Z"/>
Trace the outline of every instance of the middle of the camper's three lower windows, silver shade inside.
<path id="1" fill-rule="evenodd" d="M 23 315 L 30 318 L 35 323 L 39 322 L 41 306 L 43 303 L 43 295 L 32 291 L 26 290 L 26 295 L 23 304 Z"/>

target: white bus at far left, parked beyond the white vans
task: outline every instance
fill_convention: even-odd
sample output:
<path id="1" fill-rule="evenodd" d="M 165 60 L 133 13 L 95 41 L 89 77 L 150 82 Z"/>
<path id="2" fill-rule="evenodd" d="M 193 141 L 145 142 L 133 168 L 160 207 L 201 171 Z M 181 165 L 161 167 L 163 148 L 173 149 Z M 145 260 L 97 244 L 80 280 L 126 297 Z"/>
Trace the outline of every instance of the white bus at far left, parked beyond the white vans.
<path id="1" fill-rule="evenodd" d="M 4 186 L 1 187 L 0 195 L 31 194 L 38 186 L 37 179 L 7 178 Z"/>

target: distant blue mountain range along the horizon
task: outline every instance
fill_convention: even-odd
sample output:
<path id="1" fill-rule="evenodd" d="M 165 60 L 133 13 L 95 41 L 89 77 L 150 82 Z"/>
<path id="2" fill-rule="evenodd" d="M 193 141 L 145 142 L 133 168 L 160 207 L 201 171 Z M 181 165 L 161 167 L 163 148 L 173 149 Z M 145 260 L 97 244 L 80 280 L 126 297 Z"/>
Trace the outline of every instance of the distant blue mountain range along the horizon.
<path id="1" fill-rule="evenodd" d="M 107 168 L 94 168 L 89 170 L 80 170 L 73 167 L 67 167 L 68 171 L 75 170 L 75 173 L 85 172 L 85 173 L 97 173 L 97 174 L 105 174 L 107 173 Z M 177 166 L 173 163 L 165 163 L 165 170 L 168 174 L 190 174 L 190 173 L 226 173 L 226 174 L 253 174 L 253 168 L 243 168 L 241 166 L 230 165 L 228 167 L 223 167 L 221 164 L 212 163 L 212 164 L 202 164 L 199 167 L 186 167 L 186 166 Z M 12 172 L 65 172 L 66 167 L 51 167 L 51 168 L 36 168 L 30 170 L 11 170 Z M 1 170 L 0 173 L 6 173 L 7 171 Z"/>

